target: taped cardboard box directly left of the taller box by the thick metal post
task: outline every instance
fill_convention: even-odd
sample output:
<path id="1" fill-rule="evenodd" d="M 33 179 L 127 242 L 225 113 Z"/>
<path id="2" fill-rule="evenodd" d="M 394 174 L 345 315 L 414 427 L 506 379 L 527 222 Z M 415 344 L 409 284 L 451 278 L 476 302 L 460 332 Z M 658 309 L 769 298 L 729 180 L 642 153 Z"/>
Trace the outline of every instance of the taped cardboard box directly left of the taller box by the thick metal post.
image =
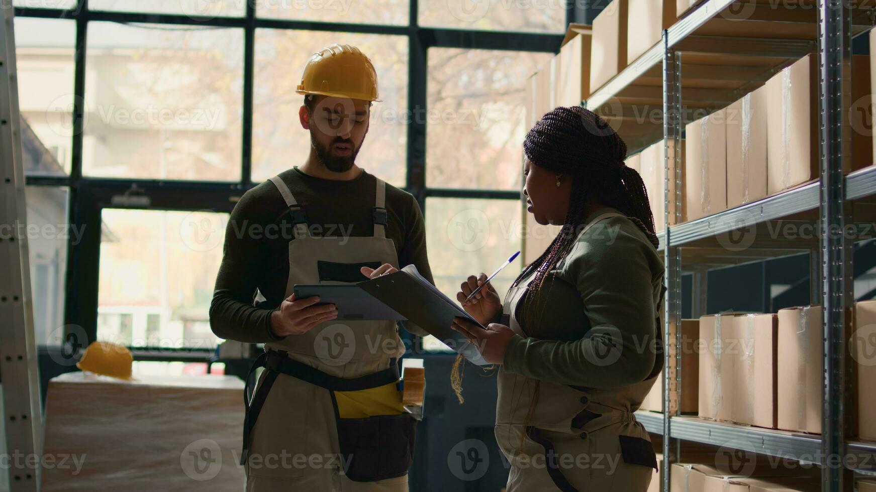
<path id="1" fill-rule="evenodd" d="M 728 347 L 734 361 L 727 395 L 733 422 L 776 426 L 778 327 L 775 314 L 744 314 L 732 320 L 729 342 L 736 347 Z"/>

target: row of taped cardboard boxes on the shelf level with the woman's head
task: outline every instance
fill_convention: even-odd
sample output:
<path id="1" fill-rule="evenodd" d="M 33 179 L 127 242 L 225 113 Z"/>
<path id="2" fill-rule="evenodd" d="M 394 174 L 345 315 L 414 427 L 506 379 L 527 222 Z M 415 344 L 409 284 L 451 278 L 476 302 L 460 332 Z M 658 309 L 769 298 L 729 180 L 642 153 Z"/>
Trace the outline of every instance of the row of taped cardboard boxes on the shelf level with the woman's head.
<path id="1" fill-rule="evenodd" d="M 851 101 L 870 98 L 870 59 L 852 57 Z M 818 178 L 818 60 L 808 55 L 767 84 L 685 129 L 686 220 Z M 866 108 L 870 104 L 865 104 Z M 851 128 L 851 171 L 872 164 L 872 136 Z"/>

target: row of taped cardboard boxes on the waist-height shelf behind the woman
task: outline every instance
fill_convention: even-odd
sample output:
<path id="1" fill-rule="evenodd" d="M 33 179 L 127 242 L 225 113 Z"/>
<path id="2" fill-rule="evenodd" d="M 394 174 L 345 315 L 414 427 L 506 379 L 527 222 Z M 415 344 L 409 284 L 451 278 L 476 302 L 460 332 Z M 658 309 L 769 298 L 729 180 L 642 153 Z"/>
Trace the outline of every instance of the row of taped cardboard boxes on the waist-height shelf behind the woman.
<path id="1" fill-rule="evenodd" d="M 876 300 L 855 305 L 851 363 L 858 372 L 858 436 L 876 440 Z M 778 314 L 713 314 L 699 323 L 699 416 L 820 433 L 823 329 L 820 306 Z M 682 377 L 689 374 L 684 370 Z"/>

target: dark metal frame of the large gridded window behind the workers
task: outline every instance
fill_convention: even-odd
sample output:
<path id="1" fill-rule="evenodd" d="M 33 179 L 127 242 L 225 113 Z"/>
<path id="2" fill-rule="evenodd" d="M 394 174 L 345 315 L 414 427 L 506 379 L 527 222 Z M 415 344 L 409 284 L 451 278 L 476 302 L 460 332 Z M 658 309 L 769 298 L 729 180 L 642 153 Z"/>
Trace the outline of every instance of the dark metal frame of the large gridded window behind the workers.
<path id="1" fill-rule="evenodd" d="M 589 7 L 583 7 L 588 9 Z M 71 9 L 41 9 L 15 7 L 16 17 L 73 19 L 76 24 L 74 54 L 74 114 L 72 163 L 68 176 L 27 176 L 28 186 L 67 186 L 69 188 L 69 222 L 82 228 L 81 241 L 67 244 L 67 279 L 65 285 L 64 320 L 70 326 L 81 327 L 88 343 L 96 340 L 97 289 L 100 272 L 100 223 L 104 207 L 111 205 L 114 195 L 133 189 L 149 196 L 148 210 L 210 210 L 230 213 L 237 198 L 258 185 L 251 180 L 253 67 L 255 61 L 255 34 L 258 28 L 307 30 L 323 32 L 353 32 L 367 34 L 403 35 L 408 41 L 407 109 L 427 109 L 427 51 L 432 47 L 505 50 L 520 52 L 558 53 L 564 33 L 468 31 L 460 29 L 420 27 L 418 0 L 410 0 L 409 25 L 370 25 L 285 20 L 256 17 L 255 4 L 247 2 L 242 18 L 197 18 L 175 14 L 145 14 L 124 11 L 89 11 L 88 0 L 79 0 Z M 567 24 L 587 18 L 582 6 L 569 2 Z M 241 179 L 237 182 L 182 181 L 161 179 L 115 179 L 82 176 L 82 101 L 85 92 L 86 40 L 90 21 L 149 23 L 167 25 L 194 25 L 239 28 L 244 30 L 244 84 Z M 427 197 L 519 199 L 518 191 L 491 189 L 454 189 L 426 186 L 426 122 L 407 124 L 406 186 L 402 189 L 413 196 L 425 211 Z M 136 186 L 136 188 L 135 188 Z M 124 207 L 123 207 L 124 208 Z M 409 335 L 409 334 L 406 334 Z M 65 336 L 67 336 L 65 334 Z M 137 360 L 192 362 L 209 359 L 212 351 L 204 349 L 177 349 L 169 354 L 135 354 Z"/>

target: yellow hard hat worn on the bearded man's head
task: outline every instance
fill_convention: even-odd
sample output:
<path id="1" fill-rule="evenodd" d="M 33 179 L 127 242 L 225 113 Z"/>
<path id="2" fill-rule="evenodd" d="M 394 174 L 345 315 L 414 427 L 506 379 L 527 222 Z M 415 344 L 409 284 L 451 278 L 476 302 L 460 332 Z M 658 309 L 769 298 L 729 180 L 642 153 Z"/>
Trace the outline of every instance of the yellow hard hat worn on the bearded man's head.
<path id="1" fill-rule="evenodd" d="M 350 45 L 326 46 L 314 53 L 295 92 L 380 102 L 378 74 L 371 60 Z"/>

